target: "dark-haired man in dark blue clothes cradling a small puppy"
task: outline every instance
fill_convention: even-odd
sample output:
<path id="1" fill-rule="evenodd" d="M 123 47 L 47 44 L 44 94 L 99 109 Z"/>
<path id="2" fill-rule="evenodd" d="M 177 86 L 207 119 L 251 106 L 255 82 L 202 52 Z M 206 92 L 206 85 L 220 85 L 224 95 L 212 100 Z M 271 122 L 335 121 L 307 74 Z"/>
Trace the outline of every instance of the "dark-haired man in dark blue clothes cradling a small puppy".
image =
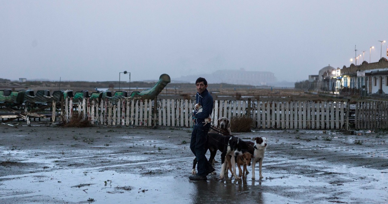
<path id="1" fill-rule="evenodd" d="M 190 180 L 206 180 L 207 175 L 214 171 L 213 166 L 208 162 L 205 156 L 205 146 L 210 129 L 210 123 L 203 123 L 205 118 L 208 118 L 213 110 L 213 97 L 208 89 L 206 79 L 199 77 L 195 82 L 197 86 L 196 103 L 202 105 L 202 112 L 198 110 L 193 112 L 195 121 L 194 129 L 191 133 L 190 149 L 197 158 L 197 174 L 191 175 Z M 204 125 L 206 124 L 206 125 Z"/>

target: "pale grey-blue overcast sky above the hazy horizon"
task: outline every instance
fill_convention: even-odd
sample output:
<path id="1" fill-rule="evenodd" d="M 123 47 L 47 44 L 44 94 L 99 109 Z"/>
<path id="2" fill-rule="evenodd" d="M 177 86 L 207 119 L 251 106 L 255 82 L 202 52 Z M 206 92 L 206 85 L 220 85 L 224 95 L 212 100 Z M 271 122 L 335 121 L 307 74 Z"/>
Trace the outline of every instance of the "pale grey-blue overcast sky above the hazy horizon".
<path id="1" fill-rule="evenodd" d="M 355 45 L 367 62 L 375 46 L 378 61 L 387 22 L 386 0 L 0 0 L 0 78 L 118 81 L 126 70 L 140 81 L 244 68 L 302 81 L 348 67 Z"/>

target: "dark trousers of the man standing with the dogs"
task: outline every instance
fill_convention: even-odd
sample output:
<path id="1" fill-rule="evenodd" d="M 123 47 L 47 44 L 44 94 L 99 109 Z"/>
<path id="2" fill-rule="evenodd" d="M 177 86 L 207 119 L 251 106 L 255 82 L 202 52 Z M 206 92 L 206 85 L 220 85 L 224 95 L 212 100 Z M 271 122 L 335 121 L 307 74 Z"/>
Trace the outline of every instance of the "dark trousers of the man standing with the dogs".
<path id="1" fill-rule="evenodd" d="M 191 133 L 190 149 L 197 158 L 197 174 L 199 176 L 206 176 L 205 172 L 213 168 L 205 156 L 209 129 L 210 123 L 205 126 L 196 125 Z"/>

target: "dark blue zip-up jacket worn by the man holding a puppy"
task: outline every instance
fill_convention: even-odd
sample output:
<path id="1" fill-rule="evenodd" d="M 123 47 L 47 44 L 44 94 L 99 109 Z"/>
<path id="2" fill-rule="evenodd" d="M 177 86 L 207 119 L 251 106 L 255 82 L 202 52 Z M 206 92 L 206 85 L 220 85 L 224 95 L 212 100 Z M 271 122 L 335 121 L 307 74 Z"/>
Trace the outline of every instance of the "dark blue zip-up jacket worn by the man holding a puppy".
<path id="1" fill-rule="evenodd" d="M 197 118 L 195 120 L 195 124 L 204 125 L 205 118 L 208 118 L 211 112 L 213 111 L 213 96 L 210 95 L 208 89 L 205 89 L 201 94 L 197 92 L 197 95 L 195 97 L 196 103 L 201 104 L 202 106 L 202 112 L 196 113 L 195 117 Z"/>

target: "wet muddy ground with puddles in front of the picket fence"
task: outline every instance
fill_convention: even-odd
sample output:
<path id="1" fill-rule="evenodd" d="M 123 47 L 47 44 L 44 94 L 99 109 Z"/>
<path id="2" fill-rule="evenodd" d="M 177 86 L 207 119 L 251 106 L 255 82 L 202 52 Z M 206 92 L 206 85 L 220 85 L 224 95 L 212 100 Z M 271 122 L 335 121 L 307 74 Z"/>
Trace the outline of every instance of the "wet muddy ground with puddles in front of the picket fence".
<path id="1" fill-rule="evenodd" d="M 253 130 L 263 179 L 188 179 L 188 128 L 0 124 L 0 203 L 388 203 L 388 132 Z M 216 159 L 220 161 L 220 153 Z M 251 167 L 248 167 L 251 171 Z"/>

